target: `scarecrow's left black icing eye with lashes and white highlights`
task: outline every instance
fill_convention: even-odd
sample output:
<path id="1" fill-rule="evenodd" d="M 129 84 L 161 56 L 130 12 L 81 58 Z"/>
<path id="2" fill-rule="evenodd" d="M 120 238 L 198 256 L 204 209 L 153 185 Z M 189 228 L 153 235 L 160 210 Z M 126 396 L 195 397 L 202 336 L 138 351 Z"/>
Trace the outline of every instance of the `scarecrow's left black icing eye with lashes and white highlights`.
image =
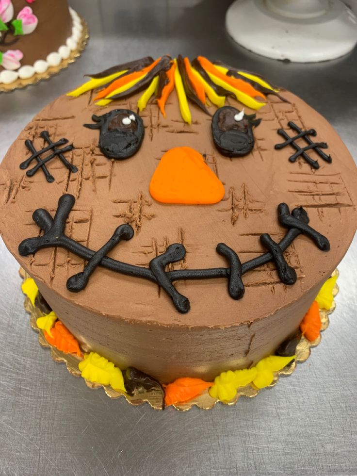
<path id="1" fill-rule="evenodd" d="M 108 159 L 124 160 L 134 155 L 144 138 L 142 118 L 129 109 L 114 109 L 101 116 L 92 115 L 96 124 L 84 124 L 100 129 L 99 148 Z"/>

